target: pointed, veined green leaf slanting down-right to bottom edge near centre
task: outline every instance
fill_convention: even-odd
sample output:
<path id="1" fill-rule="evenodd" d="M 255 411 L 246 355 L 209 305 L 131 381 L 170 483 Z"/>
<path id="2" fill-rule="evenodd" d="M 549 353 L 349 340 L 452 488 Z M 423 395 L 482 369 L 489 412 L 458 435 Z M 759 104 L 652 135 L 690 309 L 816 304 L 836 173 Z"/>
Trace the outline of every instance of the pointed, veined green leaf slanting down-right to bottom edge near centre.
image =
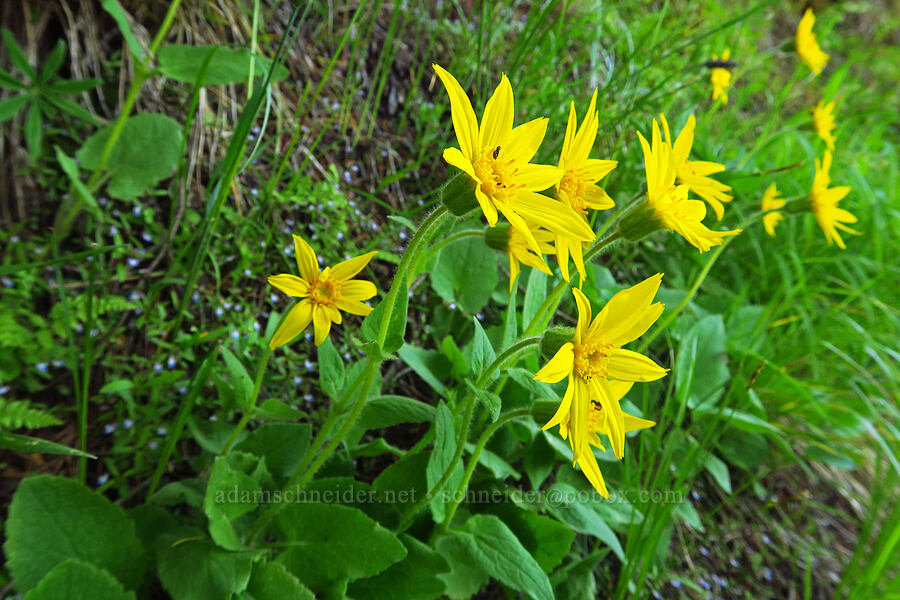
<path id="1" fill-rule="evenodd" d="M 462 531 L 451 535 L 464 544 L 475 564 L 500 583 L 535 600 L 553 600 L 546 573 L 497 517 L 475 515 L 466 521 Z"/>

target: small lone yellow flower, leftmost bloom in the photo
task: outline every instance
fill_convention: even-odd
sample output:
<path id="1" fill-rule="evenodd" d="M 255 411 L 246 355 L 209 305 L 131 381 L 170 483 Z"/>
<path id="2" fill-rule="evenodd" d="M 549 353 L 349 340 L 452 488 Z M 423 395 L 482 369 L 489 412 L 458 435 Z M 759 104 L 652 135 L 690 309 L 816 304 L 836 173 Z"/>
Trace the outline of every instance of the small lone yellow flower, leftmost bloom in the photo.
<path id="1" fill-rule="evenodd" d="M 295 298 L 302 298 L 291 308 L 281 322 L 269 348 L 274 350 L 282 346 L 309 326 L 312 321 L 316 331 L 316 346 L 328 337 L 331 323 L 341 322 L 338 309 L 354 315 L 366 316 L 372 307 L 363 304 L 375 295 L 375 284 L 371 281 L 351 279 L 362 271 L 372 257 L 378 252 L 367 252 L 362 256 L 338 263 L 334 267 L 325 267 L 319 271 L 316 253 L 302 237 L 295 235 L 294 254 L 297 255 L 297 267 L 301 277 L 282 273 L 268 278 L 268 282 L 276 288 Z"/>

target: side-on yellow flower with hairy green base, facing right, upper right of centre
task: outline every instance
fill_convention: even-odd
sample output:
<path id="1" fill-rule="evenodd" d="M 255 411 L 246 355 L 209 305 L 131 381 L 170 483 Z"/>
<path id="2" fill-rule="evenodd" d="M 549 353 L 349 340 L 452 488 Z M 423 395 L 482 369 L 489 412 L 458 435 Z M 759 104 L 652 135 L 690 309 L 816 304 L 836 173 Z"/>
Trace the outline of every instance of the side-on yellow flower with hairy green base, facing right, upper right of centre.
<path id="1" fill-rule="evenodd" d="M 688 199 L 687 185 L 675 185 L 673 149 L 668 141 L 662 140 L 656 119 L 653 120 L 652 142 L 648 144 L 640 132 L 638 138 L 644 151 L 647 200 L 619 222 L 619 232 L 625 239 L 638 240 L 655 229 L 666 228 L 676 231 L 700 252 L 707 252 L 712 246 L 720 245 L 724 238 L 741 232 L 740 229 L 712 231 L 702 223 L 706 205 L 700 200 Z M 679 136 L 679 142 L 683 144 L 681 139 Z"/>

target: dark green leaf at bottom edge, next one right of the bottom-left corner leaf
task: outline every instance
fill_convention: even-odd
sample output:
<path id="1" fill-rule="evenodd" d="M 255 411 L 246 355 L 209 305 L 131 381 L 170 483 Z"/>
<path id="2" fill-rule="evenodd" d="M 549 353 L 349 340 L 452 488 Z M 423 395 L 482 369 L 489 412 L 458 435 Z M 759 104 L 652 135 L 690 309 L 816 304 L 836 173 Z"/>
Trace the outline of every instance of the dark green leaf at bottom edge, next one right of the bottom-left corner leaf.
<path id="1" fill-rule="evenodd" d="M 195 528 L 166 532 L 156 544 L 157 573 L 172 600 L 222 600 L 242 592 L 253 555 L 229 552 Z"/>

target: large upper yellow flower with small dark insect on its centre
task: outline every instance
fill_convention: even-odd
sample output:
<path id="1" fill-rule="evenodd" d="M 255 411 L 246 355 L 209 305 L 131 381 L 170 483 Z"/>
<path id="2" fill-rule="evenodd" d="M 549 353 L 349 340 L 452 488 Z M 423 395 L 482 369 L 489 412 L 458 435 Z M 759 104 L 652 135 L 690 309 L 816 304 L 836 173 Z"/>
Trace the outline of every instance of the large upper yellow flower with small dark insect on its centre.
<path id="1" fill-rule="evenodd" d="M 479 126 L 472 103 L 456 79 L 432 65 L 450 96 L 450 113 L 459 148 L 446 148 L 444 160 L 475 181 L 475 198 L 488 225 L 497 224 L 497 211 L 528 240 L 535 252 L 540 245 L 525 219 L 578 242 L 590 242 L 594 232 L 568 206 L 538 194 L 555 186 L 562 169 L 530 164 L 544 134 L 547 119 L 539 118 L 513 128 L 513 92 L 504 75 L 484 108 Z"/>

